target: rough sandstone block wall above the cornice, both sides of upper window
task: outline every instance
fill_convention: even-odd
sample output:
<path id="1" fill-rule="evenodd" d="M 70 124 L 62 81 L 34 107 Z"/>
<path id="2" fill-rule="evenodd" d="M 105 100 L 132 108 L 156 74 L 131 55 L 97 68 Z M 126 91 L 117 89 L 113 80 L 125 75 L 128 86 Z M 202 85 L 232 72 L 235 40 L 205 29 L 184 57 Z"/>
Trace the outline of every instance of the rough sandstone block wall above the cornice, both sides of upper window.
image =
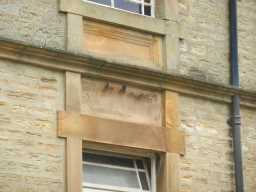
<path id="1" fill-rule="evenodd" d="M 179 3 L 180 62 L 178 74 L 229 84 L 229 0 L 177 0 Z M 0 37 L 28 44 L 65 49 L 66 17 L 58 0 L 2 0 Z M 241 86 L 254 86 L 256 62 L 254 0 L 238 1 Z"/>

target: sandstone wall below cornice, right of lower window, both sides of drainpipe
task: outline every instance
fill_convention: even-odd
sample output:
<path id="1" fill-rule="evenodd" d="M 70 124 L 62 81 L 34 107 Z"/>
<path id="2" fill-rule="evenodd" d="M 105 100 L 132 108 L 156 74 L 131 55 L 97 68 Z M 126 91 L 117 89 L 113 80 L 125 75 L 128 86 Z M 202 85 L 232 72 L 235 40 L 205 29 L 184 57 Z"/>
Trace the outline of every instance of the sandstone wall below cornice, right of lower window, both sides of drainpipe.
<path id="1" fill-rule="evenodd" d="M 233 192 L 234 161 L 230 108 L 223 103 L 181 97 L 181 129 L 186 152 L 180 163 L 181 192 Z M 242 150 L 245 191 L 256 188 L 256 112 L 242 108 Z"/>

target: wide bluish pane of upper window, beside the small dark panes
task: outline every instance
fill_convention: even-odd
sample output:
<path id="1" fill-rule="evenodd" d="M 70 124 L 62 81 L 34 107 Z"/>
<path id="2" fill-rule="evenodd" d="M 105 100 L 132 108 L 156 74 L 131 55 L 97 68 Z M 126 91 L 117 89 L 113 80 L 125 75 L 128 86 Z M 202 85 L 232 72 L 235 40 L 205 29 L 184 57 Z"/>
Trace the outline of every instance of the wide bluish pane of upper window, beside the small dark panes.
<path id="1" fill-rule="evenodd" d="M 141 4 L 135 3 L 132 0 L 115 0 L 114 3 L 116 8 L 142 14 Z"/>

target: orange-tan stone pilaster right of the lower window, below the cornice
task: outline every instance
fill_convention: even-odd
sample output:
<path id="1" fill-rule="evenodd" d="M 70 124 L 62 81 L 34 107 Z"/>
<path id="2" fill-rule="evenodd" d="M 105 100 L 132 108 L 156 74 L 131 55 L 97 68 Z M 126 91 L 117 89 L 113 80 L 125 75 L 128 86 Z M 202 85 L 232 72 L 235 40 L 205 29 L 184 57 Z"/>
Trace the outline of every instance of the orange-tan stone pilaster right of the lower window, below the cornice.
<path id="1" fill-rule="evenodd" d="M 165 91 L 163 96 L 164 120 L 166 134 L 166 153 L 161 158 L 159 192 L 179 192 L 179 160 L 184 154 L 184 133 L 180 127 L 179 94 Z"/>

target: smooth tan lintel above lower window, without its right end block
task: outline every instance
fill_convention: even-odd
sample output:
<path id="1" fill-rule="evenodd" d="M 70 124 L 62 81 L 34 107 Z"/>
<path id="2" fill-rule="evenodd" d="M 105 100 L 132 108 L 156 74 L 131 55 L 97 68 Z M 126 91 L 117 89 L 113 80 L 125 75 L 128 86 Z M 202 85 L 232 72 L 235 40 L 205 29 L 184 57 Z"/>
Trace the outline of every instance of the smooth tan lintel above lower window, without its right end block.
<path id="1" fill-rule="evenodd" d="M 165 151 L 162 127 L 98 118 L 78 113 L 58 113 L 58 134 L 61 137 L 82 137 L 85 141 Z"/>

